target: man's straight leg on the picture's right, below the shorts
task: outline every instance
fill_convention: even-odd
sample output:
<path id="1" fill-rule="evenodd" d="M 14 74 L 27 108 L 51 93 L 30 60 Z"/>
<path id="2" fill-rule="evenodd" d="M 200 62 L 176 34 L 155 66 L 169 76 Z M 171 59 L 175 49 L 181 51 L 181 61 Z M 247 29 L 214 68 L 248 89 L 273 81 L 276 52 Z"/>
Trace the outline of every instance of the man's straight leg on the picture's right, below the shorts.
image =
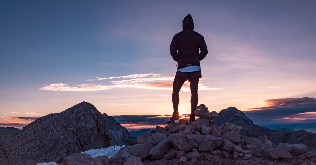
<path id="1" fill-rule="evenodd" d="M 198 81 L 199 81 L 199 79 L 195 79 L 195 80 L 190 81 L 190 89 L 191 89 L 190 121 L 191 122 L 195 120 L 194 111 L 197 108 L 197 103 L 198 103 L 198 95 L 197 95 Z"/>

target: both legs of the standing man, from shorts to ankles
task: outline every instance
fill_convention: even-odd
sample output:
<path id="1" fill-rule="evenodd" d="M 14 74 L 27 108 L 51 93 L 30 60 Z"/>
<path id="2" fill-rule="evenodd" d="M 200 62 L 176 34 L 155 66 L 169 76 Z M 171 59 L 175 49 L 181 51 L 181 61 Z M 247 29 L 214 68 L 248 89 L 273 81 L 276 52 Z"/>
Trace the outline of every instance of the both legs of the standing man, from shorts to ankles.
<path id="1" fill-rule="evenodd" d="M 179 91 L 183 85 L 183 83 L 187 79 L 182 76 L 175 76 L 173 81 L 173 90 L 172 90 L 172 104 L 173 104 L 173 113 L 179 113 Z M 197 95 L 197 86 L 199 79 L 190 81 L 190 89 L 191 89 L 191 112 L 194 112 L 197 107 L 198 95 Z"/>

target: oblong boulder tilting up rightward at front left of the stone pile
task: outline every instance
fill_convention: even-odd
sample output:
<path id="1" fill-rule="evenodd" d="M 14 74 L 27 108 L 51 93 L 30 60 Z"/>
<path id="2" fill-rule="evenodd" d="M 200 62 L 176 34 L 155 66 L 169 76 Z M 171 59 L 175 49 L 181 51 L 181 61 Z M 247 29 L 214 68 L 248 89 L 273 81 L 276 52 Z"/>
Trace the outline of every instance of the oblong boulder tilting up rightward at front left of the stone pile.
<path id="1" fill-rule="evenodd" d="M 150 155 L 151 159 L 161 159 L 165 153 L 170 150 L 171 147 L 171 140 L 166 138 L 165 140 L 161 141 L 155 147 L 153 147 L 148 155 Z"/>

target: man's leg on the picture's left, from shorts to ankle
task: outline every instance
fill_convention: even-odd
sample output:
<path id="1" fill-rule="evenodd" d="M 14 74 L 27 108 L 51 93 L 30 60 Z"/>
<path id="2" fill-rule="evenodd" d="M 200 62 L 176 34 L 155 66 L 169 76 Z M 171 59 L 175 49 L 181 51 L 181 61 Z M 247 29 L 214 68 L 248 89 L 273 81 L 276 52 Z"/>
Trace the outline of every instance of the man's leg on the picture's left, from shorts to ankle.
<path id="1" fill-rule="evenodd" d="M 178 107 L 179 107 L 179 91 L 186 81 L 185 78 L 182 76 L 175 76 L 173 80 L 173 89 L 172 89 L 172 104 L 173 104 L 173 113 L 179 114 Z"/>

